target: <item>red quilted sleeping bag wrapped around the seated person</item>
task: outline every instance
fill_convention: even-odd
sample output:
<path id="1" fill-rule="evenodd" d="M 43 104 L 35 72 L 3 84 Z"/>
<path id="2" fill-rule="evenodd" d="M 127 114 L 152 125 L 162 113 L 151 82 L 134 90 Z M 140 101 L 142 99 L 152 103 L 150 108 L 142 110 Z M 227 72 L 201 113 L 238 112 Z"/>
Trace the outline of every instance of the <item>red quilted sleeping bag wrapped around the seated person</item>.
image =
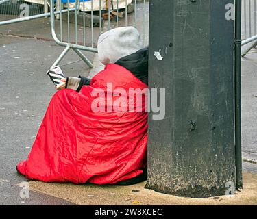
<path id="1" fill-rule="evenodd" d="M 91 92 L 100 88 L 107 93 L 107 83 L 112 83 L 113 90 L 125 89 L 127 100 L 130 88 L 147 88 L 126 68 L 108 64 L 80 92 L 56 92 L 32 151 L 17 166 L 21 174 L 45 182 L 114 184 L 143 172 L 147 165 L 144 99 L 143 112 L 93 112 L 96 97 Z"/>

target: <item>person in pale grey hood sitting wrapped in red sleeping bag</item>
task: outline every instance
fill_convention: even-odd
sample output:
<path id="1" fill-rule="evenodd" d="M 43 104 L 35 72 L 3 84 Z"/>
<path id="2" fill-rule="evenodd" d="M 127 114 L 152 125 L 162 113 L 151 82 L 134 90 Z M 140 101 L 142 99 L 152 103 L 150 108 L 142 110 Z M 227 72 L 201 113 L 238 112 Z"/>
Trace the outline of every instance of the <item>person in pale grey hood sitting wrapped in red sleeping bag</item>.
<path id="1" fill-rule="evenodd" d="M 97 48 L 104 70 L 92 79 L 68 77 L 66 89 L 53 95 L 32 151 L 16 166 L 28 179 L 99 185 L 131 185 L 146 179 L 147 100 L 134 101 L 141 112 L 113 109 L 121 103 L 120 88 L 127 103 L 131 88 L 147 88 L 148 48 L 134 27 L 101 34 Z M 106 111 L 110 107 L 112 111 Z"/>

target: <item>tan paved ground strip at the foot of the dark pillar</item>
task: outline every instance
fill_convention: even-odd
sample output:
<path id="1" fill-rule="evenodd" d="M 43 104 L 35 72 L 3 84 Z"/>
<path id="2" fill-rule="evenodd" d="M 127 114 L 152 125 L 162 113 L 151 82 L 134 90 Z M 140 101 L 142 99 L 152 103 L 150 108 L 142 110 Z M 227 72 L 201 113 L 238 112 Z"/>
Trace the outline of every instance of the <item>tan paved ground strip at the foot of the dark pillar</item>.
<path id="1" fill-rule="evenodd" d="M 244 189 L 234 196 L 182 198 L 144 188 L 145 182 L 130 186 L 73 185 L 29 182 L 32 191 L 51 194 L 77 205 L 257 205 L 257 175 L 245 172 Z M 135 192 L 134 192 L 135 191 Z"/>

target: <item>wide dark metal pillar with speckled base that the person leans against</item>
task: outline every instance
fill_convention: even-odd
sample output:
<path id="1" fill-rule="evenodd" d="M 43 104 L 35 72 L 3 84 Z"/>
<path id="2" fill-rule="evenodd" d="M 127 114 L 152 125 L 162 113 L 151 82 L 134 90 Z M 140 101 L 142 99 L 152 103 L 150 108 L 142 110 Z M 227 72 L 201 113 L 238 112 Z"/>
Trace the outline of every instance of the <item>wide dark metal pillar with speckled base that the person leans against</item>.
<path id="1" fill-rule="evenodd" d="M 228 3 L 234 1 L 150 1 L 149 88 L 166 89 L 166 116 L 153 120 L 149 114 L 146 188 L 206 197 L 236 185 Z"/>

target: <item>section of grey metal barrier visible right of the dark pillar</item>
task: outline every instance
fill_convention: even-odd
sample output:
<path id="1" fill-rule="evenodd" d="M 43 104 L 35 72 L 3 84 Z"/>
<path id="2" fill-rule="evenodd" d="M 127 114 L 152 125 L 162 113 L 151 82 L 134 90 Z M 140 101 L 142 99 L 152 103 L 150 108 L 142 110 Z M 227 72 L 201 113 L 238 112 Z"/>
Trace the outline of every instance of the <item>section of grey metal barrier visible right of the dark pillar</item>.
<path id="1" fill-rule="evenodd" d="M 242 56 L 257 46 L 257 0 L 242 1 Z"/>

